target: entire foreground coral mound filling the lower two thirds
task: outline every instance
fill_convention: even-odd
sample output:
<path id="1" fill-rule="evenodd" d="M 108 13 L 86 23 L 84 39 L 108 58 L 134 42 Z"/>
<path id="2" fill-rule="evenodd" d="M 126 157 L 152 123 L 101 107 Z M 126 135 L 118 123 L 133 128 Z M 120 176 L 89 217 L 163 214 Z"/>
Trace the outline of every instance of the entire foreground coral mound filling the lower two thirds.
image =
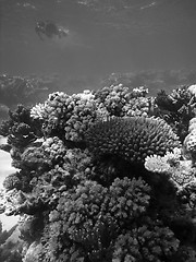
<path id="1" fill-rule="evenodd" d="M 10 111 L 3 210 L 23 261 L 196 261 L 196 85 L 119 84 Z"/>

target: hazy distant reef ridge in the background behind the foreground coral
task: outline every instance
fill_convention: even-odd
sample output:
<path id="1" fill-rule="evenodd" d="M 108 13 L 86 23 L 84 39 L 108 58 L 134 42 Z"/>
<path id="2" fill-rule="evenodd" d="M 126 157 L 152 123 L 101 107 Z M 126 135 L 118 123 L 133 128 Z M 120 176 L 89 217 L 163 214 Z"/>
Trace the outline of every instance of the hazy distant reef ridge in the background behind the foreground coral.
<path id="1" fill-rule="evenodd" d="M 13 110 L 17 104 L 33 106 L 35 103 L 42 103 L 47 96 L 56 91 L 66 91 L 71 94 L 91 86 L 90 88 L 102 88 L 105 86 L 123 84 L 130 90 L 145 86 L 150 95 L 157 94 L 158 90 L 171 92 L 181 85 L 196 83 L 195 69 L 181 70 L 137 70 L 126 73 L 111 73 L 97 80 L 81 76 L 53 75 L 11 75 L 0 74 L 0 121 L 8 118 L 9 109 Z"/>

